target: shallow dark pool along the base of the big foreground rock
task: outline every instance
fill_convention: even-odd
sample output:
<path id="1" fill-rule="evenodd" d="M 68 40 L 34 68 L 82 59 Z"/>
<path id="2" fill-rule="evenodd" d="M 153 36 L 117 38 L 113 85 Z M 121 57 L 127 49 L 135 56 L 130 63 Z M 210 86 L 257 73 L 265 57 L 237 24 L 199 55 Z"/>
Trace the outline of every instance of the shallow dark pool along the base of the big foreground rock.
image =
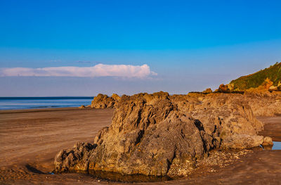
<path id="1" fill-rule="evenodd" d="M 89 174 L 96 179 L 103 179 L 106 181 L 117 181 L 117 182 L 152 182 L 152 181 L 170 181 L 173 180 L 171 177 L 163 176 L 146 176 L 142 174 L 131 174 L 131 175 L 122 175 L 115 172 L 103 172 L 103 171 L 94 171 L 90 170 L 89 172 L 79 171 L 78 173 Z"/>

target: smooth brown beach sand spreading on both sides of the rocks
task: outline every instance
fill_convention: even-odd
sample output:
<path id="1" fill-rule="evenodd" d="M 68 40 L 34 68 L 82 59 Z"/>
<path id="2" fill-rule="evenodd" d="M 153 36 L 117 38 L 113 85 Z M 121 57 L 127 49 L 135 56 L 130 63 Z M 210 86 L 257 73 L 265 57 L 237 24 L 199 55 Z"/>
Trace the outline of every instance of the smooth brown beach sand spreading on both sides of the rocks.
<path id="1" fill-rule="evenodd" d="M 58 151 L 77 141 L 93 141 L 99 129 L 110 125 L 112 115 L 112 109 L 1 110 L 0 184 L 112 184 L 86 174 L 48 174 Z M 268 122 L 262 134 L 281 141 L 281 117 L 259 119 Z M 281 184 L 281 151 L 248 153 L 232 165 L 211 171 L 143 184 Z"/>

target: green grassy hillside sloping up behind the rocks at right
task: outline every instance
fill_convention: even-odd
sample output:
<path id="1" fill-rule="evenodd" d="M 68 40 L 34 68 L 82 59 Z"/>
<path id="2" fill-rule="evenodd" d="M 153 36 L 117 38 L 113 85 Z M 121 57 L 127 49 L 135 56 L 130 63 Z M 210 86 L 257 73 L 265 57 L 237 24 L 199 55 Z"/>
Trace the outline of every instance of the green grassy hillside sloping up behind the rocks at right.
<path id="1" fill-rule="evenodd" d="M 259 87 L 266 78 L 270 79 L 274 86 L 277 86 L 278 82 L 281 82 L 281 63 L 275 63 L 275 65 L 254 74 L 234 79 L 230 84 L 234 85 L 234 89 L 246 90 L 251 87 Z"/>

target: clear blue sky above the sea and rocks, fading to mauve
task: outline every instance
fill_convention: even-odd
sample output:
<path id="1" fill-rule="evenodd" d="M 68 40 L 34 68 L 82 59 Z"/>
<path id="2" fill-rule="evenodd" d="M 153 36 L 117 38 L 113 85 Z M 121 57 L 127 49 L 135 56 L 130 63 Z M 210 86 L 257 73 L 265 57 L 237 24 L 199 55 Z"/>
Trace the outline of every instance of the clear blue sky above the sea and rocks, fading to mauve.
<path id="1" fill-rule="evenodd" d="M 33 76 L 2 72 L 0 96 L 214 89 L 281 61 L 280 9 L 281 1 L 2 0 L 0 68 Z M 46 77 L 37 69 L 99 64 L 146 64 L 157 75 L 119 77 L 121 68 L 117 76 Z"/>

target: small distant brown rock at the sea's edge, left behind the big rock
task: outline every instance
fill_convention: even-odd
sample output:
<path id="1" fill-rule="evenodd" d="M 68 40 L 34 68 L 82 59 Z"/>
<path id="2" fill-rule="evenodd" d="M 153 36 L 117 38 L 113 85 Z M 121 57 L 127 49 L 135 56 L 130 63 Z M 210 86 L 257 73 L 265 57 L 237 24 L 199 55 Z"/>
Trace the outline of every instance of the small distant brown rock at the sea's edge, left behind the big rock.
<path id="1" fill-rule="evenodd" d="M 105 94 L 98 94 L 98 96 L 93 98 L 91 108 L 114 108 L 119 98 L 117 94 L 112 94 L 111 97 Z"/>

